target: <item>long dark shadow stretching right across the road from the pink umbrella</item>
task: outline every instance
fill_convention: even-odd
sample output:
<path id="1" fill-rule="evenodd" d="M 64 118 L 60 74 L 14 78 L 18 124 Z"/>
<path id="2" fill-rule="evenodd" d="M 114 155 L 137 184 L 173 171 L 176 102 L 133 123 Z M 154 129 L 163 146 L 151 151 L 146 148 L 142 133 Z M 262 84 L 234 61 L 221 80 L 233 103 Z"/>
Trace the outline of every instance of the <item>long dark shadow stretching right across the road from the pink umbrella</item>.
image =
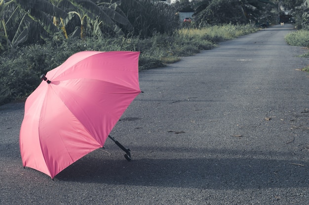
<path id="1" fill-rule="evenodd" d="M 100 159 L 87 155 L 55 177 L 112 185 L 248 189 L 308 187 L 309 164 L 257 158 Z"/>

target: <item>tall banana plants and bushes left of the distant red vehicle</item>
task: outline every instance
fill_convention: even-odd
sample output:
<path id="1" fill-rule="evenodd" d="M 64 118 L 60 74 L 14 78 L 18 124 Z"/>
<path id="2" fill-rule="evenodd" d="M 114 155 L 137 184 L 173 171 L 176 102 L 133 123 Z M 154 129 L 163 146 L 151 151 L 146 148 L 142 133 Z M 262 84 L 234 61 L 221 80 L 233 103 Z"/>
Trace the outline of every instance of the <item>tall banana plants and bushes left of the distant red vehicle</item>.
<path id="1" fill-rule="evenodd" d="M 66 38 L 172 35 L 179 28 L 175 7 L 153 0 L 0 0 L 0 52 Z"/>

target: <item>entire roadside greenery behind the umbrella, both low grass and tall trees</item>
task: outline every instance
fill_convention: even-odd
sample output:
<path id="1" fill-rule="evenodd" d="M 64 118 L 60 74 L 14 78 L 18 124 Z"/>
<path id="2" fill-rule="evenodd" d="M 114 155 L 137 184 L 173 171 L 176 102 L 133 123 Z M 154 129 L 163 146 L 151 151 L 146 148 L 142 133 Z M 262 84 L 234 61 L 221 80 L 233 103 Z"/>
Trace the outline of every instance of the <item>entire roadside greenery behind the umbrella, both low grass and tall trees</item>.
<path id="1" fill-rule="evenodd" d="M 309 0 L 297 0 L 306 10 Z M 295 0 L 280 1 L 286 8 Z M 304 7 L 305 6 L 305 7 Z M 293 8 L 292 8 L 293 7 Z M 193 10 L 192 22 L 179 11 Z M 293 11 L 294 11 L 293 10 Z M 224 15 L 223 15 L 224 14 Z M 278 0 L 0 0 L 0 105 L 24 100 L 39 76 L 85 50 L 140 51 L 139 70 L 162 67 L 278 23 Z M 299 28 L 306 24 L 296 18 Z"/>

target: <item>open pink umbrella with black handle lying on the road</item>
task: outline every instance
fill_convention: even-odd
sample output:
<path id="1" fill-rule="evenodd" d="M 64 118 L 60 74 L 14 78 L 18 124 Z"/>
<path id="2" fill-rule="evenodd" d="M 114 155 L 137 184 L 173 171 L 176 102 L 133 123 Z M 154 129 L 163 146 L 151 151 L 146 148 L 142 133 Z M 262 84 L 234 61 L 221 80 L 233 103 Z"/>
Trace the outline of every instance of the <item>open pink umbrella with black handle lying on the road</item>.
<path id="1" fill-rule="evenodd" d="M 141 92 L 139 52 L 84 51 L 47 72 L 27 98 L 20 129 L 24 167 L 53 178 L 105 140 Z M 130 150 L 126 158 L 131 159 Z"/>

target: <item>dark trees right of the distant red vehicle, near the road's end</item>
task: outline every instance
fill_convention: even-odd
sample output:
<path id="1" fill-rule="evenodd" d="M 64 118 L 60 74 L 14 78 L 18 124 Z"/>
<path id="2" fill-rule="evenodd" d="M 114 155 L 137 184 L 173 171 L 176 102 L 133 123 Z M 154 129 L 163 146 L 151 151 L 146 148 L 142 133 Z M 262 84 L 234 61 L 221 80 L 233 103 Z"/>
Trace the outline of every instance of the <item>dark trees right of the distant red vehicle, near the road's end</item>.
<path id="1" fill-rule="evenodd" d="M 243 24 L 273 21 L 277 16 L 271 0 L 202 0 L 193 1 L 196 27 L 216 24 Z"/>

